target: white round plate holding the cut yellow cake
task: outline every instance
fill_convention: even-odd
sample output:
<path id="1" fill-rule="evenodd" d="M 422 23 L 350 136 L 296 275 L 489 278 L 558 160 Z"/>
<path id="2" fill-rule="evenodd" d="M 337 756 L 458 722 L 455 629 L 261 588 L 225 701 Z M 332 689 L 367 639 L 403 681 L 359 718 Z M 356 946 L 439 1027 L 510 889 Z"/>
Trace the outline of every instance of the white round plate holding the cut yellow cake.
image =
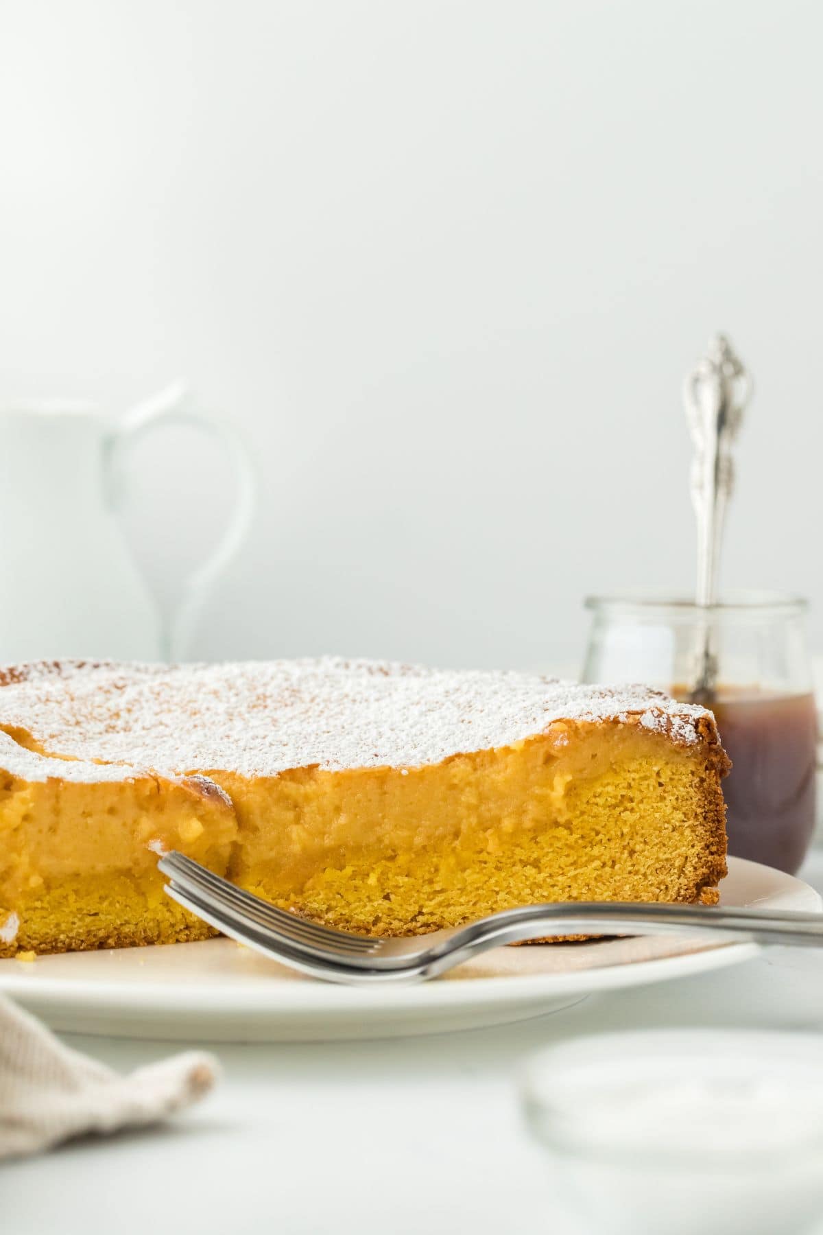
<path id="1" fill-rule="evenodd" d="M 813 888 L 729 858 L 727 905 L 821 910 Z M 331 1041 L 480 1029 L 749 960 L 756 944 L 619 939 L 496 948 L 415 987 L 336 987 L 231 940 L 0 961 L 0 990 L 52 1028 L 185 1041 Z"/>

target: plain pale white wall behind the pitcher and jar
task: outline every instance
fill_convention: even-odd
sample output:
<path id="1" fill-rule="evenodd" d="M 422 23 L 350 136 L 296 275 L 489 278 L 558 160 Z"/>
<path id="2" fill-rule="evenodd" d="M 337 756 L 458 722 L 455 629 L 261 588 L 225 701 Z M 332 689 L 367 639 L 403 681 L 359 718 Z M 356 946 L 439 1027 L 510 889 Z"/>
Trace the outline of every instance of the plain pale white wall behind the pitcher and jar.
<path id="1" fill-rule="evenodd" d="M 183 373 L 243 433 L 197 656 L 574 663 L 586 592 L 691 587 L 723 329 L 726 582 L 823 613 L 822 38 L 792 0 L 6 0 L 0 396 Z M 228 489 L 170 433 L 136 463 L 168 588 Z"/>

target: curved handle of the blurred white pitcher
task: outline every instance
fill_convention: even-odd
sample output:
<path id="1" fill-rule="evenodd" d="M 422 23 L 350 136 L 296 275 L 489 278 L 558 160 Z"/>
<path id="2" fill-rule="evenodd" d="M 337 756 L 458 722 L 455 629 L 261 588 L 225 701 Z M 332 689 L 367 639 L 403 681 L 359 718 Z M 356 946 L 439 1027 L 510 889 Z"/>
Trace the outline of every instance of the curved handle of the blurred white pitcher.
<path id="1" fill-rule="evenodd" d="M 155 430 L 169 425 L 196 429 L 222 446 L 234 473 L 237 498 L 226 530 L 215 550 L 201 566 L 190 573 L 176 606 L 168 614 L 160 614 L 160 655 L 164 661 L 181 657 L 211 584 L 246 538 L 252 524 L 255 489 L 252 463 L 239 437 L 233 430 L 210 420 L 199 410 L 188 383 L 174 382 L 165 390 L 160 390 L 131 408 L 115 426 L 114 433 L 109 438 L 106 479 L 112 508 L 117 508 L 123 492 L 120 475 L 121 453 L 127 451 L 138 438 L 147 437 Z"/>

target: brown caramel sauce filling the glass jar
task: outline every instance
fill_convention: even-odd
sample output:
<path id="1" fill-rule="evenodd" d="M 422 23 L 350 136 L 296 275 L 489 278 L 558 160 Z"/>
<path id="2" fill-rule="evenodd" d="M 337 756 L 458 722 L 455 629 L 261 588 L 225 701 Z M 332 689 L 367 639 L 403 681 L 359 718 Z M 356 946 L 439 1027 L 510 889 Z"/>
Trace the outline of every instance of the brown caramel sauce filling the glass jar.
<path id="1" fill-rule="evenodd" d="M 681 685 L 672 694 L 689 698 Z M 814 831 L 814 695 L 721 685 L 711 710 L 732 760 L 723 782 L 729 853 L 793 874 Z"/>

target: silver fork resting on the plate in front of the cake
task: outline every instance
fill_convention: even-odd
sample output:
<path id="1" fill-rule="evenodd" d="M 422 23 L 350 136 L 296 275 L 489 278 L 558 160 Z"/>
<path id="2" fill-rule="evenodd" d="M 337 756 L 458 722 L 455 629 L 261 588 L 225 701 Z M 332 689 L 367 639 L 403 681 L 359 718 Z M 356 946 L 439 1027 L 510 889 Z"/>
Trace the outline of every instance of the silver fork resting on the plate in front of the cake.
<path id="1" fill-rule="evenodd" d="M 302 973 L 352 986 L 420 982 L 501 944 L 553 935 L 680 935 L 718 944 L 823 945 L 823 913 L 733 906 L 566 902 L 506 909 L 469 923 L 401 939 L 349 935 L 278 909 L 183 853 L 158 862 L 165 892 L 197 918 Z"/>

